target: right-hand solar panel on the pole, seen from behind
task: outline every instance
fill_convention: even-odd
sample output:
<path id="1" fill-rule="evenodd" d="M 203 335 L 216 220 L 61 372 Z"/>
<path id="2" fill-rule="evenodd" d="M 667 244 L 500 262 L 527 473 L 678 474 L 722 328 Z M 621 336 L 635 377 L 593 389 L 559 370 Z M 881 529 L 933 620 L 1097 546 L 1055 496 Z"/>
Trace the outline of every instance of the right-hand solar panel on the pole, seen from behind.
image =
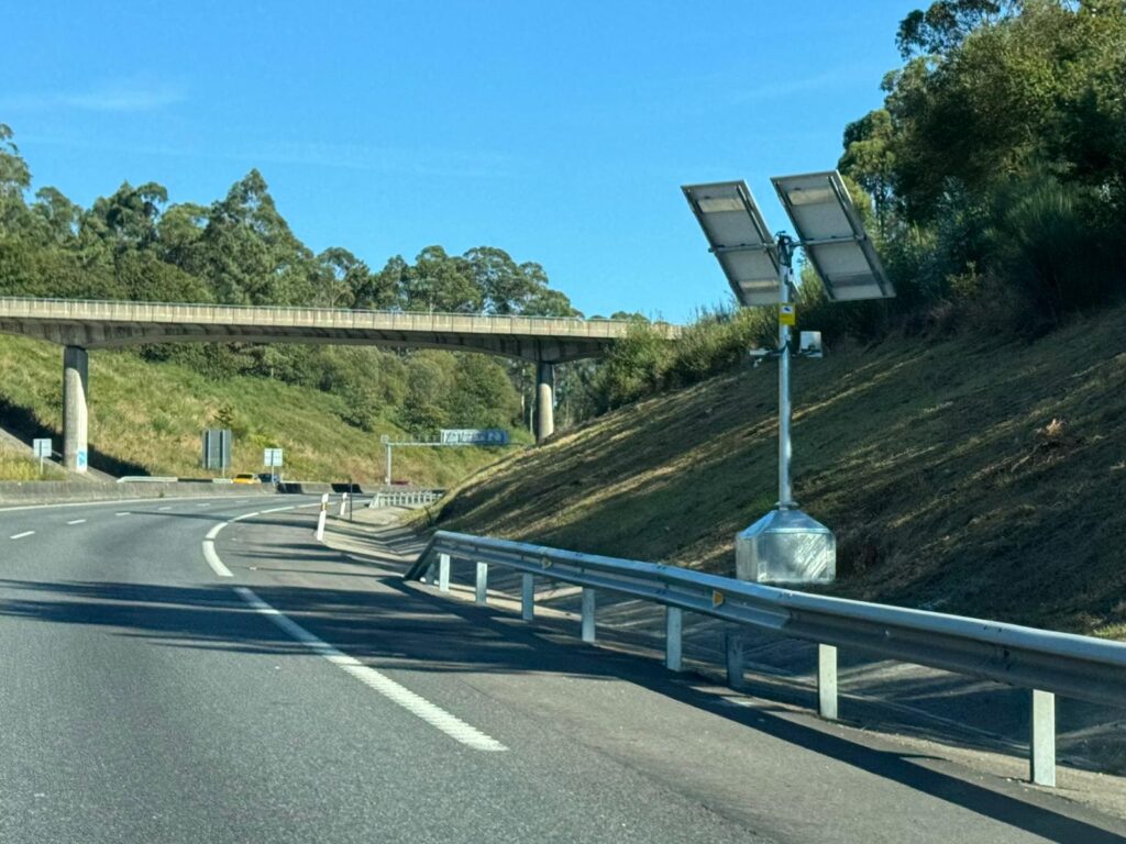
<path id="1" fill-rule="evenodd" d="M 783 176 L 771 181 L 831 300 L 895 296 L 840 173 Z"/>

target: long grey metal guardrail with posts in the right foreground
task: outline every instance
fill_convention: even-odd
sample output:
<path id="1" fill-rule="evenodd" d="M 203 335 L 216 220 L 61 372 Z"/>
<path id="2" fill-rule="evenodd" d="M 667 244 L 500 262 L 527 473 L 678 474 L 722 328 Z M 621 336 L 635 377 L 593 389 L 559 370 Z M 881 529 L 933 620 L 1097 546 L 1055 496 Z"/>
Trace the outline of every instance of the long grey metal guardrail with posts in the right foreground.
<path id="1" fill-rule="evenodd" d="M 837 717 L 837 648 L 927 665 L 1033 690 L 1031 780 L 1055 784 L 1055 694 L 1126 706 L 1126 644 L 998 621 L 865 603 L 763 586 L 678 566 L 601 557 L 537 545 L 438 531 L 406 573 L 449 589 L 452 559 L 476 563 L 476 600 L 490 565 L 524 574 L 522 617 L 534 616 L 534 578 L 582 586 L 582 638 L 595 640 L 595 595 L 616 592 L 664 604 L 665 664 L 681 667 L 685 610 L 819 645 L 819 711 Z M 743 679 L 741 638 L 729 635 L 727 679 Z"/>

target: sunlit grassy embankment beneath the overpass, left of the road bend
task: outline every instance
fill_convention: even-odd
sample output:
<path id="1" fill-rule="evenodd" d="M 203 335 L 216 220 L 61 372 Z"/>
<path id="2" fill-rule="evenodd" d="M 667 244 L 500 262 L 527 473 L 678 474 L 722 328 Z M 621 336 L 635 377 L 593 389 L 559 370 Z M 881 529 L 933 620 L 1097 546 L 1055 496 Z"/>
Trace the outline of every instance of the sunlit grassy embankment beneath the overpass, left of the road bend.
<path id="1" fill-rule="evenodd" d="M 215 414 L 233 411 L 233 472 L 263 472 L 262 449 L 285 449 L 289 478 L 381 482 L 382 433 L 340 419 L 342 401 L 316 389 L 266 378 L 208 380 L 176 363 L 149 363 L 115 351 L 90 353 L 91 465 L 117 474 L 203 477 L 200 433 Z M 62 353 L 56 345 L 0 335 L 0 428 L 43 431 L 61 448 Z M 418 485 L 446 486 L 497 459 L 477 448 L 396 449 L 394 475 Z M 27 479 L 23 458 L 0 458 L 0 478 Z"/>

